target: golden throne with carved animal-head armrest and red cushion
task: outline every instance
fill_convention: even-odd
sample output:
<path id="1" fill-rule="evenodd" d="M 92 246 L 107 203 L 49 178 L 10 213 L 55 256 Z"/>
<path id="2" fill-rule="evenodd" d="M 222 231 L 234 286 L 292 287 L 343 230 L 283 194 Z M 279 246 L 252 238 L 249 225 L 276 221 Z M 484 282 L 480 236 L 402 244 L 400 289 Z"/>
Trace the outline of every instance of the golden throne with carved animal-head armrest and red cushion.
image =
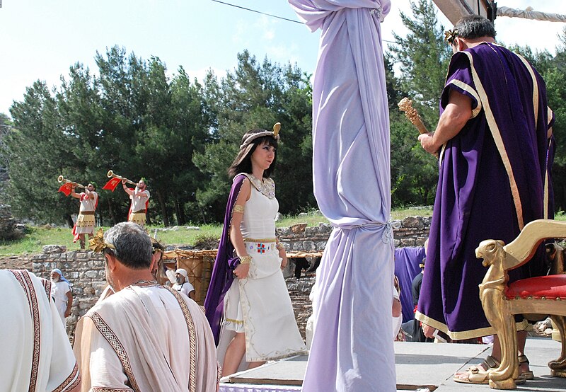
<path id="1" fill-rule="evenodd" d="M 483 258 L 483 265 L 490 267 L 480 284 L 480 299 L 502 350 L 501 364 L 489 371 L 491 388 L 515 388 L 519 359 L 514 315 L 521 313 L 550 315 L 560 331 L 562 352 L 560 358 L 548 362 L 548 367 L 553 376 L 566 377 L 566 275 L 532 277 L 507 284 L 507 271 L 531 260 L 541 242 L 548 238 L 566 238 L 566 221 L 531 221 L 512 243 L 486 240 L 475 250 L 475 255 Z"/>

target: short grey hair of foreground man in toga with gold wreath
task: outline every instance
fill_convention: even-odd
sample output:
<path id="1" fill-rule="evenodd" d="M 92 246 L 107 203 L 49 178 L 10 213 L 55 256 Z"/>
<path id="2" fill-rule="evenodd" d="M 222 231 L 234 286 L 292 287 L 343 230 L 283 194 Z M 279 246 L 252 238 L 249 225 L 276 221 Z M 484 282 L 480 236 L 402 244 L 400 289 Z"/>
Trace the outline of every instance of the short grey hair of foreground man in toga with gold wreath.
<path id="1" fill-rule="evenodd" d="M 104 234 L 104 241 L 115 246 L 108 249 L 123 265 L 134 270 L 149 268 L 153 255 L 151 239 L 141 226 L 120 222 Z"/>

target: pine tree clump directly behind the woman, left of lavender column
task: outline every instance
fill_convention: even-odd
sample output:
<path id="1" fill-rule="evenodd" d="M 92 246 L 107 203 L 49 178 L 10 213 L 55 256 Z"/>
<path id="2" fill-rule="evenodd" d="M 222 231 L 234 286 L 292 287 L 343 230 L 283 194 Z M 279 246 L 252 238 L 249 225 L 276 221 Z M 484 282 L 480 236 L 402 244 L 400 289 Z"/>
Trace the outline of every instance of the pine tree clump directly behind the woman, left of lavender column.
<path id="1" fill-rule="evenodd" d="M 197 192 L 203 214 L 218 221 L 230 188 L 227 168 L 236 157 L 241 138 L 248 129 L 272 129 L 281 122 L 277 151 L 279 211 L 299 212 L 315 206 L 312 185 L 312 91 L 308 76 L 291 64 L 263 62 L 248 51 L 238 54 L 238 65 L 220 81 L 209 74 L 204 83 L 207 103 L 216 115 L 215 141 L 195 164 L 209 175 Z"/>

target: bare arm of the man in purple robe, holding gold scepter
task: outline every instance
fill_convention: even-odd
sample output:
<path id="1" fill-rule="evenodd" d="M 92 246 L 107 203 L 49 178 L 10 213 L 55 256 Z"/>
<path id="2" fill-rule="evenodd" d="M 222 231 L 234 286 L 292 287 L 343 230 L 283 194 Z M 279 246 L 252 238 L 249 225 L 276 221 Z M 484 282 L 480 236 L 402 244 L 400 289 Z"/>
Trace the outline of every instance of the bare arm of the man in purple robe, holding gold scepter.
<path id="1" fill-rule="evenodd" d="M 448 105 L 440 116 L 434 132 L 419 135 L 422 148 L 434 154 L 441 146 L 455 137 L 472 117 L 472 100 L 468 96 L 451 90 Z"/>

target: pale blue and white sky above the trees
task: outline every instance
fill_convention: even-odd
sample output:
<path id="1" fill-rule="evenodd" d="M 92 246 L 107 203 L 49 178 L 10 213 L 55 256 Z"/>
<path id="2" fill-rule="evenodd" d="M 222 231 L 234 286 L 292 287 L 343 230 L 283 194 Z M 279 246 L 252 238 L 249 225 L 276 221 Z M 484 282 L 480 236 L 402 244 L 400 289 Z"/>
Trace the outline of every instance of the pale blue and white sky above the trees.
<path id="1" fill-rule="evenodd" d="M 246 8 L 297 20 L 287 0 L 224 0 Z M 202 79 L 207 69 L 222 76 L 236 66 L 236 54 L 248 49 L 273 62 L 293 62 L 304 71 L 316 65 L 320 32 L 299 23 L 243 11 L 210 0 L 2 0 L 0 8 L 0 113 L 40 79 L 59 86 L 61 75 L 81 62 L 96 71 L 94 55 L 120 45 L 149 59 L 161 58 L 174 73 L 180 65 Z M 498 0 L 499 6 L 566 13 L 563 0 Z M 405 34 L 399 11 L 409 1 L 392 0 L 383 23 L 383 39 Z M 449 22 L 439 13 L 441 23 Z M 498 40 L 554 52 L 561 23 L 497 18 Z"/>

